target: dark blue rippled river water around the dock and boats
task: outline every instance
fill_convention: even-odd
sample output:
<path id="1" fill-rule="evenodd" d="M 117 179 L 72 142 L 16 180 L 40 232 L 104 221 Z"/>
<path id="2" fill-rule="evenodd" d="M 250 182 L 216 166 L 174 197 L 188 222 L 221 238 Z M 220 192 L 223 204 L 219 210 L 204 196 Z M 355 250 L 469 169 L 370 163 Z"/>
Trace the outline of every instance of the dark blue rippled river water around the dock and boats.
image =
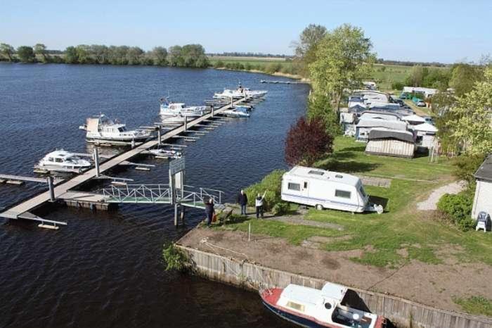
<path id="1" fill-rule="evenodd" d="M 260 84 L 265 78 L 212 69 L 0 63 L 0 173 L 33 175 L 32 166 L 56 148 L 90 151 L 78 130 L 89 115 L 152 125 L 161 96 L 201 104 L 240 81 L 268 89 L 266 101 L 251 118 L 226 122 L 186 149 L 186 184 L 223 190 L 233 201 L 241 187 L 286 167 L 285 132 L 305 111 L 306 85 Z M 167 183 L 166 162 L 142 162 L 156 167 L 118 176 Z M 0 185 L 0 208 L 43 189 Z M 1 220 L 0 327 L 287 326 L 255 293 L 166 272 L 162 245 L 202 219 L 202 211 L 188 210 L 186 227 L 176 229 L 173 213 L 166 205 L 98 213 L 57 208 L 44 214 L 68 223 L 56 232 Z"/>

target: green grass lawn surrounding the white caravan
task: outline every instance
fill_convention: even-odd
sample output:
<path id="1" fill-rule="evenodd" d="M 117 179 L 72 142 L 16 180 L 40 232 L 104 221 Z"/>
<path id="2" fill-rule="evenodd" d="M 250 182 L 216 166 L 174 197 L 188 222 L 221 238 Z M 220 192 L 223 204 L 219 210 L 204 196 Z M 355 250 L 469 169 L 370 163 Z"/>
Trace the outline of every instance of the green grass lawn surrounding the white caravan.
<path id="1" fill-rule="evenodd" d="M 342 225 L 343 231 L 273 220 L 238 220 L 223 228 L 247 231 L 251 223 L 254 234 L 285 238 L 295 245 L 310 236 L 344 236 L 323 244 L 323 248 L 326 251 L 363 250 L 363 256 L 352 260 L 378 267 L 399 267 L 411 259 L 441 263 L 447 256 L 441 252 L 449 247 L 458 249 L 453 256 L 459 260 L 492 265 L 491 234 L 461 232 L 434 218 L 432 213 L 416 209 L 417 201 L 424 200 L 433 189 L 453 180 L 453 166 L 449 160 L 440 158 L 439 163 L 428 163 L 426 157 L 404 159 L 365 155 L 364 148 L 365 144 L 354 139 L 337 137 L 335 153 L 320 160 L 316 166 L 355 175 L 391 178 L 389 188 L 365 187 L 368 194 L 386 203 L 382 215 L 310 209 L 305 217 Z M 402 248 L 406 248 L 406 256 Z"/>

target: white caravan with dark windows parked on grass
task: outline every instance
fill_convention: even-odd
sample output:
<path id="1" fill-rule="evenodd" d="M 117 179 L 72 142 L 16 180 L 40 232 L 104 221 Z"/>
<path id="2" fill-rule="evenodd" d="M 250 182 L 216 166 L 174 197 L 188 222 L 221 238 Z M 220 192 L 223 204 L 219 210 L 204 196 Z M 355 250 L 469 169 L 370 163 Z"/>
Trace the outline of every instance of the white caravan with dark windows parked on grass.
<path id="1" fill-rule="evenodd" d="M 361 213 L 382 213 L 382 206 L 369 203 L 361 179 L 346 173 L 295 166 L 282 177 L 282 200 Z"/>

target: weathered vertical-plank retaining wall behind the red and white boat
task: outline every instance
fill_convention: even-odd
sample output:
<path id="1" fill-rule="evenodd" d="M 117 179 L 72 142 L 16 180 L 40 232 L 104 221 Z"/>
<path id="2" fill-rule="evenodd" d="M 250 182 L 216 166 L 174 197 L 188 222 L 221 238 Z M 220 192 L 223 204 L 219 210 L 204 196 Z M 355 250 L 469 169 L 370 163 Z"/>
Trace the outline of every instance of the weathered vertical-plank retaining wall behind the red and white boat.
<path id="1" fill-rule="evenodd" d="M 295 275 L 290 272 L 199 251 L 195 248 L 177 246 L 188 253 L 194 269 L 199 275 L 247 289 L 258 290 L 260 286 L 283 288 L 288 284 L 321 289 L 325 284 L 322 279 Z M 439 310 L 396 296 L 363 289 L 351 288 L 347 298 L 347 303 L 354 308 L 387 317 L 391 322 L 401 327 L 410 327 L 411 324 L 411 327 L 422 328 L 492 328 L 492 319 L 488 317 Z"/>

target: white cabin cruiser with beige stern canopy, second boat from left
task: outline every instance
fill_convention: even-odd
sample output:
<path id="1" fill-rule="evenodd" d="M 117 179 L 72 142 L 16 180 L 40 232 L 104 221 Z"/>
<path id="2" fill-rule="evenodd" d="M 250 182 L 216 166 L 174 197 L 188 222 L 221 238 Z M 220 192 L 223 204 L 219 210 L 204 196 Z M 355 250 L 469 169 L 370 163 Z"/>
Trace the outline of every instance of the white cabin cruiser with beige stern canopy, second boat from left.
<path id="1" fill-rule="evenodd" d="M 86 125 L 79 129 L 86 130 L 86 140 L 94 144 L 132 144 L 152 136 L 150 131 L 127 130 L 127 125 L 114 122 L 104 114 L 88 118 Z"/>

